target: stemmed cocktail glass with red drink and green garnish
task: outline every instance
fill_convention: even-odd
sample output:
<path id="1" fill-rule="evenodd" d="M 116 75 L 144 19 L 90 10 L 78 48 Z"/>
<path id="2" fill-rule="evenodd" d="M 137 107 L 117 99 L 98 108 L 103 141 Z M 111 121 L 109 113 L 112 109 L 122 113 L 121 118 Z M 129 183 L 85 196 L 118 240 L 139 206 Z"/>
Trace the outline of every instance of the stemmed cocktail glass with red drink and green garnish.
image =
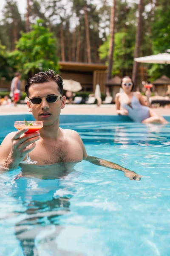
<path id="1" fill-rule="evenodd" d="M 42 121 L 15 121 L 14 127 L 18 130 L 21 130 L 23 128 L 28 128 L 28 131 L 25 132 L 25 134 L 31 134 L 36 131 L 39 131 L 43 127 Z M 29 145 L 28 145 L 29 148 Z M 37 161 L 33 161 L 30 159 L 29 152 L 27 153 L 27 159 L 23 160 L 21 163 L 37 163 Z"/>

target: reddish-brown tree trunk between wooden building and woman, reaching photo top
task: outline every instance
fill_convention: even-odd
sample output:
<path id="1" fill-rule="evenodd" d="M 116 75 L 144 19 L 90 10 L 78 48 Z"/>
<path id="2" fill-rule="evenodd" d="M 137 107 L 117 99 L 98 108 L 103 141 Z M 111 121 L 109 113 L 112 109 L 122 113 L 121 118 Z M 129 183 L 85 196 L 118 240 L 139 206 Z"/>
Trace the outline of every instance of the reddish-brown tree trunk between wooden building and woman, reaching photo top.
<path id="1" fill-rule="evenodd" d="M 110 42 L 109 42 L 109 56 L 108 56 L 108 74 L 107 74 L 107 79 L 111 79 L 112 67 L 113 67 L 115 3 L 116 3 L 116 0 L 113 0 L 113 6 L 111 7 L 111 25 L 110 25 Z"/>

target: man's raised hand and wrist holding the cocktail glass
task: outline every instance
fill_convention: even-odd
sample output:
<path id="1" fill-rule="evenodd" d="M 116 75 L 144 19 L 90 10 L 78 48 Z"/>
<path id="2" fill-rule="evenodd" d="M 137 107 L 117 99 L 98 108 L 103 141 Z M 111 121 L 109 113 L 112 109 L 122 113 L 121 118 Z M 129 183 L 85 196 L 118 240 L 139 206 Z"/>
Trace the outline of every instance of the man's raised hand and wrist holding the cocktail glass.
<path id="1" fill-rule="evenodd" d="M 28 131 L 28 128 L 23 128 L 17 131 L 12 138 L 11 152 L 4 163 L 5 168 L 17 168 L 20 161 L 26 157 L 26 154 L 35 148 L 35 141 L 40 139 L 40 133 L 35 132 L 32 134 L 24 134 L 22 137 L 20 137 L 26 131 Z M 32 145 L 27 148 L 27 146 L 30 144 Z"/>

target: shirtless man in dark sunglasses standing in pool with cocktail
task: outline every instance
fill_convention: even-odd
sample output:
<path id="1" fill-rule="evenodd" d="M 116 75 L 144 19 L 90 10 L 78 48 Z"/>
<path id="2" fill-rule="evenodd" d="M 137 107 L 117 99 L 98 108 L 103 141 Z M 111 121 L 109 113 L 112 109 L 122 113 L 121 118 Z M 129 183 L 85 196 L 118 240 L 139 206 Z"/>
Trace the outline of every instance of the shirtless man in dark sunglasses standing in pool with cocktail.
<path id="1" fill-rule="evenodd" d="M 5 137 L 0 146 L 0 164 L 4 168 L 17 169 L 30 152 L 31 160 L 36 160 L 38 166 L 86 160 L 122 171 L 130 180 L 140 180 L 140 175 L 116 163 L 88 156 L 79 134 L 59 127 L 60 112 L 65 107 L 62 77 L 59 74 L 53 70 L 40 72 L 28 79 L 25 90 L 28 111 L 36 120 L 43 122 L 43 128 L 26 135 L 24 128 Z"/>

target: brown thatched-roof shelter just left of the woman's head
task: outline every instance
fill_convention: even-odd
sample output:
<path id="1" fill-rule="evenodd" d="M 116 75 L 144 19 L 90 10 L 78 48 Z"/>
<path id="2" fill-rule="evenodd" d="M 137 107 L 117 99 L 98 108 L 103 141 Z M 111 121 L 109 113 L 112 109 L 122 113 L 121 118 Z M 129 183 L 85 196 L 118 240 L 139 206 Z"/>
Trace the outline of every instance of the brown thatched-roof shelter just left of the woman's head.
<path id="1" fill-rule="evenodd" d="M 121 78 L 119 76 L 115 76 L 105 82 L 106 87 L 109 87 L 109 92 L 111 92 L 113 101 L 115 99 L 116 93 L 119 93 Z"/>

